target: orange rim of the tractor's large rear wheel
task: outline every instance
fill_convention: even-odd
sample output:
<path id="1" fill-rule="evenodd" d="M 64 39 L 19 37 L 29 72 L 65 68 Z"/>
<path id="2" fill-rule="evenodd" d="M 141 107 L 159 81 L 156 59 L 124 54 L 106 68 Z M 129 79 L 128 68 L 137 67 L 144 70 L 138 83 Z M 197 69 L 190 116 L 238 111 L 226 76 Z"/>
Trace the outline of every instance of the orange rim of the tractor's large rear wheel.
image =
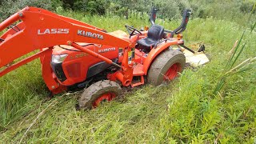
<path id="1" fill-rule="evenodd" d="M 173 80 L 178 76 L 178 72 L 182 70 L 182 66 L 180 63 L 174 63 L 170 68 L 166 71 L 166 74 L 164 74 L 164 80 L 170 81 Z"/>

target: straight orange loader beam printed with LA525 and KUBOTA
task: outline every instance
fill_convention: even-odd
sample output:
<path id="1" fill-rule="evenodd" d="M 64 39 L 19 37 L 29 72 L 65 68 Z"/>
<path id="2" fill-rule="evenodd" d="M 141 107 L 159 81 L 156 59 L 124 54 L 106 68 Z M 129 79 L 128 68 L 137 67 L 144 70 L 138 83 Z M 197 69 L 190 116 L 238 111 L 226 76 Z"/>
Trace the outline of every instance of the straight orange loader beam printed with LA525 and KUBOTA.
<path id="1" fill-rule="evenodd" d="M 0 36 L 0 68 L 34 50 L 51 49 L 56 45 L 87 42 L 122 48 L 130 46 L 129 41 L 107 34 L 105 30 L 35 7 L 26 7 L 7 18 L 0 24 L 0 32 L 18 21 L 21 22 L 14 29 L 9 29 Z M 34 58 L 38 58 L 36 55 Z M 3 75 L 1 73 L 2 71 L 0 76 Z"/>

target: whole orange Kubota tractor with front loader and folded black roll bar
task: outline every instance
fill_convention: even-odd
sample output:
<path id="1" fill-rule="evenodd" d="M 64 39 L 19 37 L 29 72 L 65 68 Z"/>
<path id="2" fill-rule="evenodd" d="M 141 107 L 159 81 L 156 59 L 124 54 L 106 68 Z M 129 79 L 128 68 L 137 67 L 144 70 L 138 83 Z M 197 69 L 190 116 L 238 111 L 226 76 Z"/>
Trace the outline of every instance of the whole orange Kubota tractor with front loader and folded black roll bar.
<path id="1" fill-rule="evenodd" d="M 6 30 L 0 37 L 0 77 L 40 58 L 51 94 L 85 88 L 79 99 L 82 108 L 112 100 L 122 93 L 122 86 L 169 82 L 186 64 L 182 50 L 190 49 L 184 46 L 181 33 L 190 10 L 184 11 L 182 24 L 175 30 L 154 24 L 155 14 L 153 8 L 148 30 L 126 26 L 126 34 L 26 7 L 0 24 L 0 31 Z M 22 57 L 30 52 L 33 55 Z M 194 55 L 193 50 L 188 52 Z"/>

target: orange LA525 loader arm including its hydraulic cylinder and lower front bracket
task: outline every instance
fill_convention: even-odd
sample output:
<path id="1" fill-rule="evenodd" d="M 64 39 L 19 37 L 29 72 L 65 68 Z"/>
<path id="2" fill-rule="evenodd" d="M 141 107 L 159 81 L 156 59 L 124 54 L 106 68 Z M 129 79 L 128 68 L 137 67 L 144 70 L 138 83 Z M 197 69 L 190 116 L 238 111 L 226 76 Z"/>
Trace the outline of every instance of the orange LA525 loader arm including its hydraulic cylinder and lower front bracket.
<path id="1" fill-rule="evenodd" d="M 51 94 L 58 94 L 66 90 L 66 86 L 59 85 L 58 79 L 53 76 L 53 70 L 50 66 L 54 46 L 74 46 L 78 50 L 116 66 L 119 65 L 109 58 L 79 46 L 75 42 L 118 46 L 126 49 L 126 51 L 134 46 L 134 43 L 131 44 L 122 38 L 107 34 L 106 30 L 35 7 L 26 7 L 1 22 L 0 32 L 5 30 L 7 26 L 12 28 L 9 28 L 0 36 L 0 77 L 19 66 L 25 65 L 27 62 L 33 61 L 35 58 L 40 58 L 42 77 Z M 40 51 L 11 66 L 6 66 L 34 50 Z M 127 61 L 124 61 L 122 66 L 127 66 L 126 63 Z M 3 68 L 4 66 L 6 68 Z"/>

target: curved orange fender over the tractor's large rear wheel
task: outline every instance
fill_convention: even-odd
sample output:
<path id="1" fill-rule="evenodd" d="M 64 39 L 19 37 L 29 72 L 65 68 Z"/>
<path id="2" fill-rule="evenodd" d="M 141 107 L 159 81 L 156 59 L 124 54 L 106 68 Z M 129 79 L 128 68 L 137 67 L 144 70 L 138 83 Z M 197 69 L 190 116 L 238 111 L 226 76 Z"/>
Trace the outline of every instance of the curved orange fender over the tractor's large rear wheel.
<path id="1" fill-rule="evenodd" d="M 159 43 L 159 45 L 156 48 L 152 48 L 152 50 L 150 50 L 150 53 L 147 55 L 147 57 L 143 63 L 144 74 L 145 75 L 147 74 L 152 62 L 154 62 L 154 59 L 157 58 L 158 54 L 161 54 L 162 51 L 168 49 L 169 46 L 178 45 L 179 43 L 180 43 L 179 41 L 174 40 L 171 42 Z"/>

